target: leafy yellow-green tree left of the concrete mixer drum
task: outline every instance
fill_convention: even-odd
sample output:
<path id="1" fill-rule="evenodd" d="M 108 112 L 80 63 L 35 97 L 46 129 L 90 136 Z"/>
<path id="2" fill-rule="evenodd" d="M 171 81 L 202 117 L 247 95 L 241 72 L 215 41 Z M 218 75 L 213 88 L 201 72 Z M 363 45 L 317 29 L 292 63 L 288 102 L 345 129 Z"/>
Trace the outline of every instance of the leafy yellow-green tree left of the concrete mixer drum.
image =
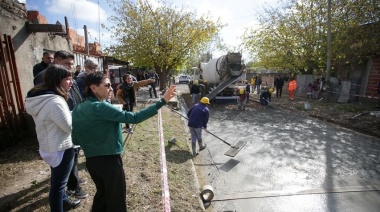
<path id="1" fill-rule="evenodd" d="M 219 21 L 187 12 L 158 2 L 155 7 L 148 1 L 109 1 L 115 16 L 110 21 L 117 44 L 108 51 L 116 58 L 132 61 L 136 66 L 153 68 L 160 79 L 184 65 L 194 54 L 202 51 L 221 29 Z M 160 89 L 166 87 L 161 80 Z"/>

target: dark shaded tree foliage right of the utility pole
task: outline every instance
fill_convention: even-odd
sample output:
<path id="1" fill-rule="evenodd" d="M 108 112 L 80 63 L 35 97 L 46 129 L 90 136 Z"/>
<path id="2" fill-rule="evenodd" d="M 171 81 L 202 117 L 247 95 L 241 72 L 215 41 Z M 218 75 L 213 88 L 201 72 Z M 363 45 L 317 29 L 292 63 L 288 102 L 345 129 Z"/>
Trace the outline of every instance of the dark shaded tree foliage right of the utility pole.
<path id="1" fill-rule="evenodd" d="M 355 64 L 380 51 L 380 4 L 376 0 L 332 3 L 334 74 L 346 78 Z"/>

